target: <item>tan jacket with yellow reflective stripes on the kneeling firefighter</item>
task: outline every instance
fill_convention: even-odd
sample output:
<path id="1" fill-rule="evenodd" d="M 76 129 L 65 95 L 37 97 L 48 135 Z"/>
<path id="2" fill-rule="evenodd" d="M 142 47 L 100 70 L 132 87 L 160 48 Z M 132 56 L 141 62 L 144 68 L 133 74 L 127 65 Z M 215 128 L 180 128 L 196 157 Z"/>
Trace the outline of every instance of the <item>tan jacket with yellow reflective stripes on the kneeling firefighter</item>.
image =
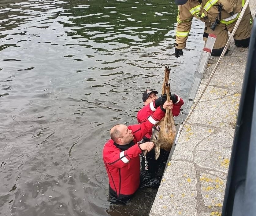
<path id="1" fill-rule="evenodd" d="M 176 48 L 184 49 L 191 29 L 193 16 L 209 25 L 219 14 L 218 5 L 222 4 L 221 21 L 219 25 L 235 22 L 246 0 L 188 0 L 186 4 L 178 6 L 176 27 Z"/>

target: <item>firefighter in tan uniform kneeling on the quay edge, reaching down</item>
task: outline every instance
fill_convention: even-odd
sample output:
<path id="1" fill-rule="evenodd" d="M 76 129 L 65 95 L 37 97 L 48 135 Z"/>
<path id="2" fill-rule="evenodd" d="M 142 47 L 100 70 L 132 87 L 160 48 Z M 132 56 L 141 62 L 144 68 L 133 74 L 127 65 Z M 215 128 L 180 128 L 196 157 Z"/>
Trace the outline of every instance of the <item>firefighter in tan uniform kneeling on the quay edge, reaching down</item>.
<path id="1" fill-rule="evenodd" d="M 176 5 L 178 5 L 175 48 L 176 58 L 183 55 L 182 49 L 186 47 L 193 17 L 205 22 L 204 41 L 207 41 L 210 33 L 217 36 L 212 55 L 220 56 L 228 41 L 228 31 L 232 32 L 235 27 L 236 20 L 241 13 L 245 1 L 246 0 L 175 0 Z M 249 46 L 251 28 L 253 26 L 252 23 L 253 18 L 248 6 L 234 35 L 236 46 Z"/>

